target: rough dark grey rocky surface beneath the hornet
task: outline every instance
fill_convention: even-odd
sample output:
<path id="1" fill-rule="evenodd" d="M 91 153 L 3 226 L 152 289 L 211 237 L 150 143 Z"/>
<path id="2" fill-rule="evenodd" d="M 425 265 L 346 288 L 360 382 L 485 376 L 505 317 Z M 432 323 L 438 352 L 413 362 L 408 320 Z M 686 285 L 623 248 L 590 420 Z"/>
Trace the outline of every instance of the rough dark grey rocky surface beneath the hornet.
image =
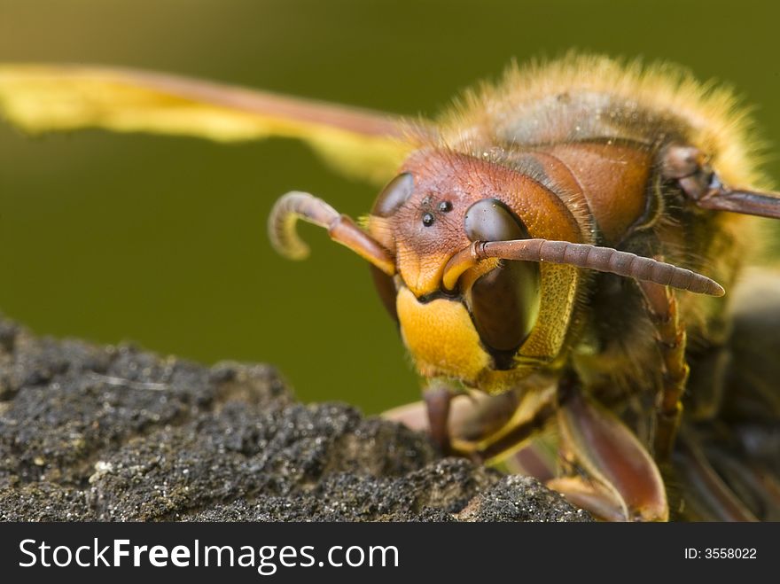
<path id="1" fill-rule="evenodd" d="M 582 521 L 266 365 L 38 339 L 0 320 L 0 519 Z"/>

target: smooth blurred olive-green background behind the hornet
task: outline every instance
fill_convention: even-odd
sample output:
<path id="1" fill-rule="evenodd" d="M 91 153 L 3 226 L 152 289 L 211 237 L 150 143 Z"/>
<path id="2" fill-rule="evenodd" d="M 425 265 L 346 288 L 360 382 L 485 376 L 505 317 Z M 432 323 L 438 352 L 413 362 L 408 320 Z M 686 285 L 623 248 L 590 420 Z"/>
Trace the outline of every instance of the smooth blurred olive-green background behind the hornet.
<path id="1" fill-rule="evenodd" d="M 511 58 L 666 58 L 737 87 L 771 150 L 778 16 L 765 0 L 0 0 L 0 60 L 146 67 L 433 114 Z M 780 177 L 776 157 L 768 171 Z M 378 412 L 417 399 L 363 262 L 316 230 L 308 261 L 272 253 L 265 220 L 292 189 L 353 215 L 376 195 L 282 140 L 31 139 L 0 125 L 0 310 L 58 337 L 270 362 L 308 401 Z"/>

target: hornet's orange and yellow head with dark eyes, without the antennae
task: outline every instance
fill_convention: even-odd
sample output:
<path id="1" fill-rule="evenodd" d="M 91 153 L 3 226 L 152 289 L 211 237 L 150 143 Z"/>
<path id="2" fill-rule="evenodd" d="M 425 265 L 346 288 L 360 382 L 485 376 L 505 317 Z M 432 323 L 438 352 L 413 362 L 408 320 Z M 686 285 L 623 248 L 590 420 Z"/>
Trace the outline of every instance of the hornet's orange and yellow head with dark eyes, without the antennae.
<path id="1" fill-rule="evenodd" d="M 530 176 L 456 152 L 421 151 L 380 193 L 368 230 L 394 253 L 378 276 L 402 338 L 425 377 L 491 393 L 558 360 L 579 275 L 569 266 L 482 261 L 448 290 L 448 261 L 473 241 L 581 241 L 564 203 Z"/>

